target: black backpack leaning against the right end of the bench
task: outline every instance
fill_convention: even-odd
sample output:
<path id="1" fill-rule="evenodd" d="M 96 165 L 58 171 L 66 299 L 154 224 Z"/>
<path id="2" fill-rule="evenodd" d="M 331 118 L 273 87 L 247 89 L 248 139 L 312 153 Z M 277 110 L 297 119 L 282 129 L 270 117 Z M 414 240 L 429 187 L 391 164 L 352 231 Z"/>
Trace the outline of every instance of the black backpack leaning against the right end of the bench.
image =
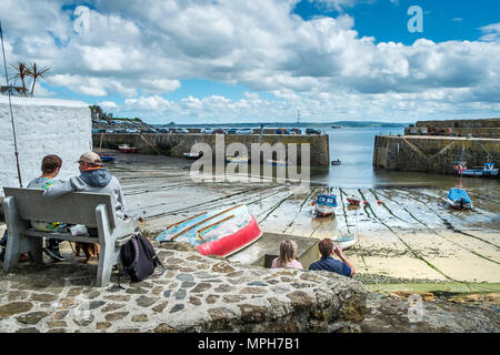
<path id="1" fill-rule="evenodd" d="M 121 262 L 123 272 L 132 282 L 151 276 L 157 266 L 161 266 L 164 271 L 153 246 L 141 233 L 133 233 L 132 237 L 121 246 Z M 118 284 L 120 285 L 120 281 Z"/>

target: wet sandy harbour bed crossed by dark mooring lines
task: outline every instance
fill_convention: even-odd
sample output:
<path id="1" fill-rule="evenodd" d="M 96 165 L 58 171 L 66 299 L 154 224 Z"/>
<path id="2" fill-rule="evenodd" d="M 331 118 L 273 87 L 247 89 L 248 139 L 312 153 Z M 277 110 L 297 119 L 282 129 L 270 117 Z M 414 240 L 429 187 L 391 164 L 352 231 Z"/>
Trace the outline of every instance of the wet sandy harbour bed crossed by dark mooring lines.
<path id="1" fill-rule="evenodd" d="M 117 154 L 108 168 L 123 186 L 128 211 L 143 214 L 152 233 L 196 213 L 247 204 L 263 232 L 316 239 L 358 232 L 358 243 L 346 255 L 368 278 L 500 282 L 500 189 L 494 181 L 468 189 L 474 209 L 459 212 L 446 205 L 451 186 L 298 190 L 276 181 L 194 182 L 191 163 Z M 334 216 L 314 216 L 311 202 L 319 191 L 341 197 Z M 368 204 L 349 206 L 351 194 Z"/>

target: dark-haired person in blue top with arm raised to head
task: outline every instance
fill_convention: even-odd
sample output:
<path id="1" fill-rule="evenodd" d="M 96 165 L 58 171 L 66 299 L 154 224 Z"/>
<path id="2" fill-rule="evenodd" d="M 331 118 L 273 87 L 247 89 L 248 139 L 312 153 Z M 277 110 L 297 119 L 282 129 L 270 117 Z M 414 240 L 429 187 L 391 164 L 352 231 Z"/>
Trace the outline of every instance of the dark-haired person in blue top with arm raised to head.
<path id="1" fill-rule="evenodd" d="M 346 258 L 340 247 L 333 247 L 333 241 L 331 239 L 324 239 L 318 244 L 321 258 L 311 265 L 309 270 L 317 271 L 330 271 L 343 276 L 352 276 L 356 273 L 354 266 Z M 338 261 L 332 257 L 333 254 L 340 257 Z"/>

